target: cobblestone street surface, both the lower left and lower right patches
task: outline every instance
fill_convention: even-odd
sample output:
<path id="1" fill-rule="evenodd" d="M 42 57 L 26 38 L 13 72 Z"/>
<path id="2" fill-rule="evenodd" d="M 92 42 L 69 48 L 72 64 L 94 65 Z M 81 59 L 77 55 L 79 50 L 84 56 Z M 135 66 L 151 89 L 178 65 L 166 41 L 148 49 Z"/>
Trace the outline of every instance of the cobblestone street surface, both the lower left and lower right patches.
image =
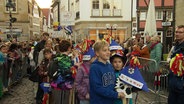
<path id="1" fill-rule="evenodd" d="M 12 88 L 11 95 L 6 95 L 0 104 L 35 104 L 33 83 L 27 78 Z M 162 101 L 158 103 L 158 101 Z M 166 104 L 166 98 L 149 92 L 139 92 L 137 104 Z M 156 101 L 156 102 L 155 102 Z"/>

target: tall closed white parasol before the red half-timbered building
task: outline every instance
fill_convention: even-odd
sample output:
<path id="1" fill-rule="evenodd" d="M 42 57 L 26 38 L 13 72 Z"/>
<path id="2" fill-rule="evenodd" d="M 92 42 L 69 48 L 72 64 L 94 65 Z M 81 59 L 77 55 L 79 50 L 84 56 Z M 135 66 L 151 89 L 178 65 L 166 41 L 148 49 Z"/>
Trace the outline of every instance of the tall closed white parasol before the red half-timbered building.
<path id="1" fill-rule="evenodd" d="M 155 3 L 154 0 L 150 0 L 149 7 L 148 7 L 148 14 L 146 18 L 146 25 L 144 29 L 144 36 L 145 35 L 156 35 L 156 19 L 155 19 Z"/>

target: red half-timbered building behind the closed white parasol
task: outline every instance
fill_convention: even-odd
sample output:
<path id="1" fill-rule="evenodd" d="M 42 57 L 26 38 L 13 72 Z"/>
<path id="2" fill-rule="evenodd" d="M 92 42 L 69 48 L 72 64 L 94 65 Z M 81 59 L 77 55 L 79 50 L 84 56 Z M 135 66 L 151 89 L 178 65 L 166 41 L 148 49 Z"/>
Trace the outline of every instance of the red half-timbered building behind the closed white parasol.
<path id="1" fill-rule="evenodd" d="M 172 47 L 175 21 L 173 20 L 174 0 L 154 0 L 157 35 L 163 43 L 163 52 Z M 144 34 L 149 0 L 137 0 L 137 31 Z"/>

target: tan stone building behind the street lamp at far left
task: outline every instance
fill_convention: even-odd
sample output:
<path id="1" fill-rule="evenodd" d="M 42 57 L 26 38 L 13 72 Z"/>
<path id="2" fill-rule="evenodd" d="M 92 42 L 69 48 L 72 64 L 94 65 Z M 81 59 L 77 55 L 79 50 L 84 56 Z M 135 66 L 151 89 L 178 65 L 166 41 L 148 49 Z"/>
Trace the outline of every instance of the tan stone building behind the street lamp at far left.
<path id="1" fill-rule="evenodd" d="M 0 0 L 0 37 L 7 39 L 10 36 L 22 41 L 33 38 L 33 34 L 40 34 L 42 12 L 35 0 L 12 0 L 15 7 L 11 9 L 6 7 L 8 1 Z M 10 14 L 16 18 L 11 24 Z"/>

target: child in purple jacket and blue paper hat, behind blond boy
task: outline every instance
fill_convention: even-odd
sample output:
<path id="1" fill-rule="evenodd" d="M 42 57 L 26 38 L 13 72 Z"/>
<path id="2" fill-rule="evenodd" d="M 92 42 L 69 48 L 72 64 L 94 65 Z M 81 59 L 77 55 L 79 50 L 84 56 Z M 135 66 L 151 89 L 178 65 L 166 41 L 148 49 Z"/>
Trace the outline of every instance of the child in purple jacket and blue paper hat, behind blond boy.
<path id="1" fill-rule="evenodd" d="M 90 64 L 96 59 L 94 56 L 94 51 L 90 47 L 88 52 L 83 55 L 83 64 L 77 71 L 75 85 L 80 104 L 89 104 L 89 68 Z"/>

